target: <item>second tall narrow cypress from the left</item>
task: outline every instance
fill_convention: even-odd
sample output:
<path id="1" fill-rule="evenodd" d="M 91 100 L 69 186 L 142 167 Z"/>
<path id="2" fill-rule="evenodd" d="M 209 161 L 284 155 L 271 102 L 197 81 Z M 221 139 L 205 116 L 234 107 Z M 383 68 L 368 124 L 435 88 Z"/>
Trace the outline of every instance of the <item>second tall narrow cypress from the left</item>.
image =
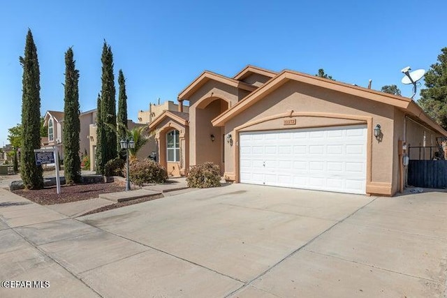
<path id="1" fill-rule="evenodd" d="M 64 175 L 66 184 L 81 181 L 81 161 L 79 156 L 79 70 L 75 68 L 73 50 L 65 53 L 65 98 L 64 98 Z"/>

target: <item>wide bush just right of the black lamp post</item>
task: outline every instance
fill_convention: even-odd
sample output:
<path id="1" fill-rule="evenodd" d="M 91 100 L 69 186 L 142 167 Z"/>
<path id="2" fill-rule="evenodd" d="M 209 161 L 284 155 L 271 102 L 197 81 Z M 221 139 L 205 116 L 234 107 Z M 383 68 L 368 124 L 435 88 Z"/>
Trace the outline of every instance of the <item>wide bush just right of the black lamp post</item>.
<path id="1" fill-rule="evenodd" d="M 164 183 L 168 180 L 166 169 L 148 158 L 132 161 L 129 172 L 129 179 L 138 186 L 145 183 Z M 124 169 L 124 174 L 126 174 L 126 169 Z"/>

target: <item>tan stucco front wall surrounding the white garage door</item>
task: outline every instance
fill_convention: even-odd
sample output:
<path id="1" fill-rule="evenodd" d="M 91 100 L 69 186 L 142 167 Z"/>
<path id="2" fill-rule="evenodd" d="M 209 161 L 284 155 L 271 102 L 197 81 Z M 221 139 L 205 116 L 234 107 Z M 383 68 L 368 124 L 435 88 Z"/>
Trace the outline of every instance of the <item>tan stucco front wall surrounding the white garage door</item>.
<path id="1" fill-rule="evenodd" d="M 249 125 L 250 122 L 268 119 L 274 115 L 290 114 L 291 110 L 305 116 L 292 117 L 296 119 L 297 123 L 294 126 L 284 126 L 284 118 L 265 121 L 265 124 Z M 306 114 L 312 114 L 314 117 L 306 117 Z M 331 114 L 337 115 L 337 117 L 317 117 L 318 114 L 326 116 Z M 358 124 L 359 121 L 356 120 L 356 117 L 371 120 L 368 124 L 370 152 L 369 161 L 367 161 L 371 181 L 367 181 L 367 192 L 388 192 L 390 195 L 393 183 L 394 107 L 300 82 L 287 82 L 226 123 L 225 133 L 232 133 L 235 141 L 233 147 L 226 143 L 226 173 L 229 178 L 237 177 L 238 144 L 235 133 L 237 129 L 256 131 Z M 366 121 L 363 122 L 366 124 Z M 380 142 L 372 135 L 372 129 L 376 124 L 381 125 L 383 132 Z"/>

